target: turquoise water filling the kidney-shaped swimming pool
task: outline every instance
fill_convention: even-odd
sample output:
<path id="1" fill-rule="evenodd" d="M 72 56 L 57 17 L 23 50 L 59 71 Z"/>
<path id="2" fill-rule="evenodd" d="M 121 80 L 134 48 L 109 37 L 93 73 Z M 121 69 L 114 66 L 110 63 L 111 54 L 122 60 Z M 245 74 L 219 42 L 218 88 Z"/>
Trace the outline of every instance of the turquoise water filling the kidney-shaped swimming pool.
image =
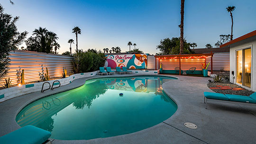
<path id="1" fill-rule="evenodd" d="M 20 126 L 50 131 L 51 138 L 61 140 L 137 132 L 175 113 L 177 105 L 162 91 L 162 84 L 174 79 L 136 76 L 88 80 L 79 88 L 30 103 L 18 113 L 16 121 Z"/>

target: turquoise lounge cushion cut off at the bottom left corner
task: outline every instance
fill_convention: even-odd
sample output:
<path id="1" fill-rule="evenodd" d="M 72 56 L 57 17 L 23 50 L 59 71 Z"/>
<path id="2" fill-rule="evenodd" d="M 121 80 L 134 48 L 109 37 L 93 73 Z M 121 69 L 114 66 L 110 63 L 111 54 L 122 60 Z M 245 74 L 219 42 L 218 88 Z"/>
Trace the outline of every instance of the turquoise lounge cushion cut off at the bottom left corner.
<path id="1" fill-rule="evenodd" d="M 36 126 L 24 126 L 0 137 L 0 144 L 42 144 L 52 134 Z"/>

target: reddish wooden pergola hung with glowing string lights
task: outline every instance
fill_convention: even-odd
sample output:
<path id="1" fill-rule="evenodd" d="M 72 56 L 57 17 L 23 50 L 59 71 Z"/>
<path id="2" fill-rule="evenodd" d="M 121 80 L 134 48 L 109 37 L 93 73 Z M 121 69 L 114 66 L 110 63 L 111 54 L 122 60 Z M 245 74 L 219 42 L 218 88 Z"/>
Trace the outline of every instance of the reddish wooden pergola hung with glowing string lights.
<path id="1" fill-rule="evenodd" d="M 210 68 L 212 74 L 212 56 L 214 53 L 207 54 L 171 54 L 171 55 L 155 55 L 155 70 L 156 70 L 156 60 L 160 59 L 179 59 L 180 62 L 180 75 L 181 75 L 181 59 L 204 59 L 204 64 L 206 64 L 206 59 L 210 57 Z M 160 69 L 160 62 L 158 63 L 158 68 Z"/>

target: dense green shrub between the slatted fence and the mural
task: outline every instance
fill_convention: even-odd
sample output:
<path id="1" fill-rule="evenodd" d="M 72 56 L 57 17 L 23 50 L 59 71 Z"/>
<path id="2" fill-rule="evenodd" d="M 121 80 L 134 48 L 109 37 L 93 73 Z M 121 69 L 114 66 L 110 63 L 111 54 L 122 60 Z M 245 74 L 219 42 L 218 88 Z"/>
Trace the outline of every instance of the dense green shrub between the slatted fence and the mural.
<path id="1" fill-rule="evenodd" d="M 93 72 L 99 70 L 99 67 L 104 66 L 106 56 L 101 51 L 79 51 L 74 54 L 73 66 L 75 73 Z"/>

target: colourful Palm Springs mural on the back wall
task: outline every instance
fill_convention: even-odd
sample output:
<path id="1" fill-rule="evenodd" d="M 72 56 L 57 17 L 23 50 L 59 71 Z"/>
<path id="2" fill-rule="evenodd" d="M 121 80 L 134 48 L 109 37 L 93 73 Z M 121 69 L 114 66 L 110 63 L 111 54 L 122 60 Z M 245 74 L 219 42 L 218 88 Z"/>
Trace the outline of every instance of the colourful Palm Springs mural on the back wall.
<path id="1" fill-rule="evenodd" d="M 128 69 L 146 69 L 147 54 L 117 54 L 106 55 L 107 61 L 105 67 L 115 69 L 117 66 L 120 68 L 125 66 Z"/>

